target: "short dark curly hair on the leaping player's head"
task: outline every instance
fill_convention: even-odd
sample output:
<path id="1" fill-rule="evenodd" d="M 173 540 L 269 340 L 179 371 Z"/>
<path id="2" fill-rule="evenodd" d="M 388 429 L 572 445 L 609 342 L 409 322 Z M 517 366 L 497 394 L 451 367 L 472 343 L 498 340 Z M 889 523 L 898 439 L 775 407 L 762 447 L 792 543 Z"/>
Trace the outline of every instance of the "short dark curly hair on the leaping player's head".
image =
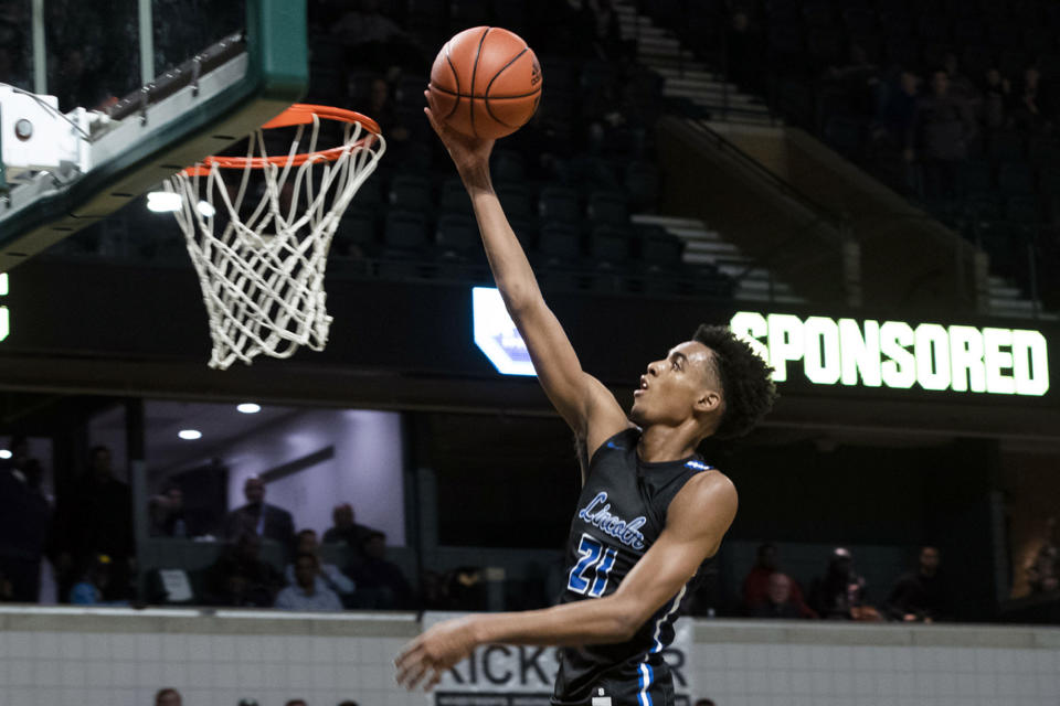
<path id="1" fill-rule="evenodd" d="M 764 417 L 776 400 L 773 368 L 729 327 L 702 324 L 692 340 L 714 352 L 713 362 L 725 407 L 714 437 L 742 437 Z"/>

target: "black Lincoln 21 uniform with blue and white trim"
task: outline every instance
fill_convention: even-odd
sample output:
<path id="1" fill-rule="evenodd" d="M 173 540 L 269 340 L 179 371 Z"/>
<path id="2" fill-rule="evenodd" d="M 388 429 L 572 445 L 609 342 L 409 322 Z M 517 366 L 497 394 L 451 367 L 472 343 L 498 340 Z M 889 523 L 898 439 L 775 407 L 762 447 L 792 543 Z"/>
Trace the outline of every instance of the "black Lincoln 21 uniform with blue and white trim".
<path id="1" fill-rule="evenodd" d="M 637 457 L 638 429 L 607 439 L 589 463 L 566 544 L 568 582 L 560 602 L 613 593 L 666 526 L 670 501 L 696 473 L 699 457 L 648 463 Z M 560 650 L 552 703 L 562 706 L 669 706 L 672 680 L 662 650 L 686 589 L 627 642 Z M 606 700 L 610 697 L 610 700 Z"/>

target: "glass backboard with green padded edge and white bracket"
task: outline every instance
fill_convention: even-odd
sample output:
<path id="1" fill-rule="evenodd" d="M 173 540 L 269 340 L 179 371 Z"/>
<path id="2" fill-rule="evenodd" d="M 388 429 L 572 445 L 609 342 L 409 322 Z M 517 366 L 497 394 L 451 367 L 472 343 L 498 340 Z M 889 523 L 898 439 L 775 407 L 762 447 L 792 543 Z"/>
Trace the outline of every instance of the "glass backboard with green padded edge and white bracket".
<path id="1" fill-rule="evenodd" d="M 307 85 L 305 0 L 0 0 L 0 272 Z"/>

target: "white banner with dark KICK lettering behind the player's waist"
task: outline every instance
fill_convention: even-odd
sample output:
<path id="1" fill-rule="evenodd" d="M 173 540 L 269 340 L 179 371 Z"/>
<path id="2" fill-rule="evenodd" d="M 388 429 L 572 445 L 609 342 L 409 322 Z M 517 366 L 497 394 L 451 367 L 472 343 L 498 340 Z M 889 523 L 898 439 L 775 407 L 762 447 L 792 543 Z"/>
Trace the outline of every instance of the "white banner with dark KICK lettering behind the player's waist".
<path id="1" fill-rule="evenodd" d="M 427 612 L 423 629 L 464 613 Z M 690 706 L 695 664 L 692 623 L 678 621 L 674 643 L 662 653 L 674 674 L 677 706 Z M 442 677 L 434 688 L 434 706 L 549 706 L 559 661 L 555 648 L 481 645 Z M 594 698 L 593 706 L 612 705 Z"/>

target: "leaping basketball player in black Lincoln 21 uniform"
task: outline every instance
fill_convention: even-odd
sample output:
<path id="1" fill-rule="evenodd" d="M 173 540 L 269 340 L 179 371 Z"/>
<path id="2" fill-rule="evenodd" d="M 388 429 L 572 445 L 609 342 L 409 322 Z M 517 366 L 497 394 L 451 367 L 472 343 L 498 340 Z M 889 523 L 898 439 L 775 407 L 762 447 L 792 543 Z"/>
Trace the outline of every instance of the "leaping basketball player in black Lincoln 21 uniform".
<path id="1" fill-rule="evenodd" d="M 707 437 L 745 434 L 768 411 L 776 396 L 771 368 L 729 329 L 700 327 L 648 364 L 627 417 L 582 371 L 538 289 L 490 183 L 494 141 L 465 137 L 426 114 L 470 194 L 490 268 L 538 379 L 574 430 L 583 489 L 561 603 L 442 622 L 398 657 L 398 682 L 430 689 L 479 644 L 559 645 L 565 649 L 553 704 L 670 706 L 674 685 L 661 652 L 674 639 L 686 585 L 718 552 L 736 513 L 732 482 L 696 449 Z"/>

